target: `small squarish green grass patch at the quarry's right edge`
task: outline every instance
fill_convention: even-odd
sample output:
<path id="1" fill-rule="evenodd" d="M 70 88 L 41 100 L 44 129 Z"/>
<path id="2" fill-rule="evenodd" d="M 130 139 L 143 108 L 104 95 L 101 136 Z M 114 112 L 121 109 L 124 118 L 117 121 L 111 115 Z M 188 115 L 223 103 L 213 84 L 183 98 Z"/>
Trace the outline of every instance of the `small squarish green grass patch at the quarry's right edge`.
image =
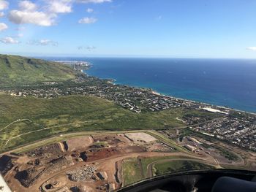
<path id="1" fill-rule="evenodd" d="M 137 158 L 128 158 L 123 164 L 124 186 L 136 183 L 143 178 L 140 174 L 140 166 Z"/>

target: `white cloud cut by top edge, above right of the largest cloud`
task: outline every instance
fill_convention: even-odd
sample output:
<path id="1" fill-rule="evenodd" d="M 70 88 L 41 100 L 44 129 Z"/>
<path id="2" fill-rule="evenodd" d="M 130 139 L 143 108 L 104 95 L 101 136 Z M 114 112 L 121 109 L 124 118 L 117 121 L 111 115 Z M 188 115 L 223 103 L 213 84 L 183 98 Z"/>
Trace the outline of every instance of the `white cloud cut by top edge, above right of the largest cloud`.
<path id="1" fill-rule="evenodd" d="M 53 13 L 72 12 L 72 1 L 70 0 L 48 1 L 48 11 Z"/>

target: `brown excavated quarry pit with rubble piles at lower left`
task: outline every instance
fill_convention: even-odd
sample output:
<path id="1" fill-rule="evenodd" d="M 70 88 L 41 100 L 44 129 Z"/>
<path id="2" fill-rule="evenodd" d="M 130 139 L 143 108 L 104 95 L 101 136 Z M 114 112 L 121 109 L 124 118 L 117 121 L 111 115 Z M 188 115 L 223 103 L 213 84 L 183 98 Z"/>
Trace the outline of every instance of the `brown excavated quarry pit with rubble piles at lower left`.
<path id="1" fill-rule="evenodd" d="M 113 191 L 122 185 L 121 162 L 173 148 L 146 133 L 95 134 L 0 157 L 12 191 Z"/>

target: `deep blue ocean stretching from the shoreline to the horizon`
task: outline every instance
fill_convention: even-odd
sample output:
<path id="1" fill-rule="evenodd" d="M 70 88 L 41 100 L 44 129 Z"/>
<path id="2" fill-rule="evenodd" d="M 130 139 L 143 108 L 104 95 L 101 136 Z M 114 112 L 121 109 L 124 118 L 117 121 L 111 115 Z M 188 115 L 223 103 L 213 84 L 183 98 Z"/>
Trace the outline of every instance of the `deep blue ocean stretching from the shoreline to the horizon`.
<path id="1" fill-rule="evenodd" d="M 67 58 L 89 61 L 87 74 L 152 88 L 181 99 L 256 112 L 256 60 L 196 58 Z"/>

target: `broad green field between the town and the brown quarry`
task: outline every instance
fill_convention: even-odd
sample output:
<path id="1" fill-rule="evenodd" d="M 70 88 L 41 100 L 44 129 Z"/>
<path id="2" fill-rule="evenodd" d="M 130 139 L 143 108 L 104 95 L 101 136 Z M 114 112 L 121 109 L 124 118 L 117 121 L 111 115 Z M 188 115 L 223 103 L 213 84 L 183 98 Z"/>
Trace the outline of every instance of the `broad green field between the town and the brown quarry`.
<path id="1" fill-rule="evenodd" d="M 0 94 L 1 152 L 70 131 L 133 130 L 184 126 L 183 109 L 135 113 L 93 96 L 37 99 Z"/>

